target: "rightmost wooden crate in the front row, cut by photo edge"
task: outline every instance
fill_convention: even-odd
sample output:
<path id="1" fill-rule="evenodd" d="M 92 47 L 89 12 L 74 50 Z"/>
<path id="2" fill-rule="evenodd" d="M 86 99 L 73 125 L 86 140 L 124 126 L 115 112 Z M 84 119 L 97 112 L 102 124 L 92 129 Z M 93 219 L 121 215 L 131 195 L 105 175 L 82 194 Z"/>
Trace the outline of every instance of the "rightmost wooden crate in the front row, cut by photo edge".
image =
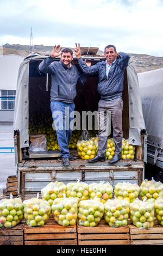
<path id="1" fill-rule="evenodd" d="M 154 225 L 153 228 L 137 228 L 130 224 L 131 245 L 163 245 L 163 227 Z"/>

